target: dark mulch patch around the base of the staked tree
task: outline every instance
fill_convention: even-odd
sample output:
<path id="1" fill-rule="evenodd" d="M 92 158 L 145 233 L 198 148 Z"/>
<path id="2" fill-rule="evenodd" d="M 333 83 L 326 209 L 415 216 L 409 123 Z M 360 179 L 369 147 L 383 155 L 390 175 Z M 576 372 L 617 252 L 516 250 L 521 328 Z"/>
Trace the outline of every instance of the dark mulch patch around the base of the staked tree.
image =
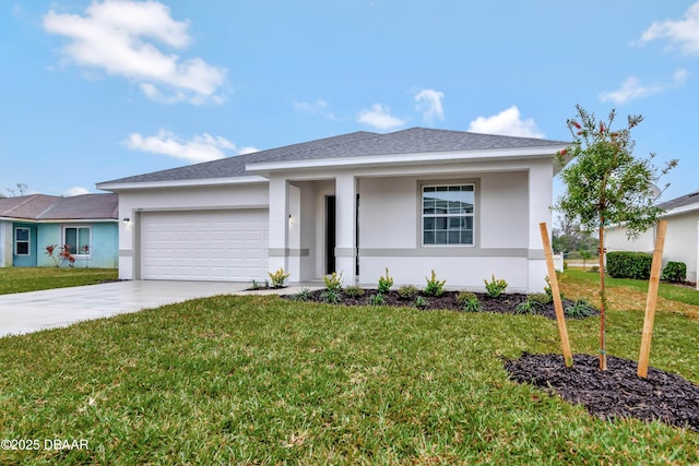
<path id="1" fill-rule="evenodd" d="M 677 374 L 649 368 L 641 379 L 635 361 L 613 356 L 601 371 L 599 358 L 590 355 L 574 355 L 573 366 L 566 368 L 560 355 L 525 353 L 505 368 L 512 380 L 553 391 L 601 419 L 660 420 L 699 431 L 699 385 Z"/>

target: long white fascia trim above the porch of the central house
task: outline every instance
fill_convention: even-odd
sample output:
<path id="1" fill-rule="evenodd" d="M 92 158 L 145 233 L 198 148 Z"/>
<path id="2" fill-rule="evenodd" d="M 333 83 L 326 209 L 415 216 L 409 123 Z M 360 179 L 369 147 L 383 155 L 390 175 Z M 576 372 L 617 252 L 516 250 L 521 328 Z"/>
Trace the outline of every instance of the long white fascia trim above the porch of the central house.
<path id="1" fill-rule="evenodd" d="M 569 144 L 537 147 L 508 147 L 459 152 L 427 152 L 414 154 L 367 155 L 356 157 L 313 158 L 305 160 L 258 162 L 246 164 L 249 172 L 301 170 L 308 168 L 352 168 L 359 166 L 434 165 L 454 162 L 502 162 L 532 158 L 553 158 Z"/>

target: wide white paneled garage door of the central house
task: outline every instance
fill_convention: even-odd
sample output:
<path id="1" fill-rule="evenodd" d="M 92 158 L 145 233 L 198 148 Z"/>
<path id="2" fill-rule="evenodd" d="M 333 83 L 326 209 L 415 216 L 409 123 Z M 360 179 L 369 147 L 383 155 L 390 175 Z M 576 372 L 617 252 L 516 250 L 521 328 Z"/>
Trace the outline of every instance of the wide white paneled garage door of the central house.
<path id="1" fill-rule="evenodd" d="M 266 276 L 268 211 L 141 214 L 144 279 L 248 282 Z"/>

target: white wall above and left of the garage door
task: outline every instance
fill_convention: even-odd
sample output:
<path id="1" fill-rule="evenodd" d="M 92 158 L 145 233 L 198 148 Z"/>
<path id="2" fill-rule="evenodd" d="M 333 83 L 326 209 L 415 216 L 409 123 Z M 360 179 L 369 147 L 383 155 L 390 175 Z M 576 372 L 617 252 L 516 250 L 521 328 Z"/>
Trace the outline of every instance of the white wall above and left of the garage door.
<path id="1" fill-rule="evenodd" d="M 139 278 L 137 272 L 140 212 L 266 208 L 268 206 L 266 183 L 121 191 L 119 192 L 119 278 Z M 129 218 L 129 222 L 122 222 L 125 218 Z"/>

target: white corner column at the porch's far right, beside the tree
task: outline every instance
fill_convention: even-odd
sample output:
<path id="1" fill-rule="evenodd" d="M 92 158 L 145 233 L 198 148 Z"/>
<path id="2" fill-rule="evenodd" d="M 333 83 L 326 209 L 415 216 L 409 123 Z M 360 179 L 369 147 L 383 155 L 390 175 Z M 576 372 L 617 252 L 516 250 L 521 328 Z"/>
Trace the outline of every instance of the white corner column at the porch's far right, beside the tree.
<path id="1" fill-rule="evenodd" d="M 548 162 L 535 164 L 529 170 L 529 292 L 541 292 L 546 286 L 546 259 L 538 224 L 546 222 L 550 235 L 553 177 L 553 166 Z"/>

